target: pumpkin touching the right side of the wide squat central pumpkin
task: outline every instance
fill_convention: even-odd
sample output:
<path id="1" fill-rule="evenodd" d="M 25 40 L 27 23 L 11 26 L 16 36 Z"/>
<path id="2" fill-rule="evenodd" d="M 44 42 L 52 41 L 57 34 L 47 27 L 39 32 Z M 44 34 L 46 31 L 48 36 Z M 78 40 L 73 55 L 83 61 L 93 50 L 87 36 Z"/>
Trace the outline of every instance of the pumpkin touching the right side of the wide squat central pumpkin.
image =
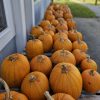
<path id="1" fill-rule="evenodd" d="M 79 50 L 79 49 L 75 49 L 72 53 L 75 56 L 77 64 L 81 63 L 81 61 L 86 59 L 86 57 L 87 57 L 87 54 L 85 52 L 83 52 L 82 50 Z"/>

